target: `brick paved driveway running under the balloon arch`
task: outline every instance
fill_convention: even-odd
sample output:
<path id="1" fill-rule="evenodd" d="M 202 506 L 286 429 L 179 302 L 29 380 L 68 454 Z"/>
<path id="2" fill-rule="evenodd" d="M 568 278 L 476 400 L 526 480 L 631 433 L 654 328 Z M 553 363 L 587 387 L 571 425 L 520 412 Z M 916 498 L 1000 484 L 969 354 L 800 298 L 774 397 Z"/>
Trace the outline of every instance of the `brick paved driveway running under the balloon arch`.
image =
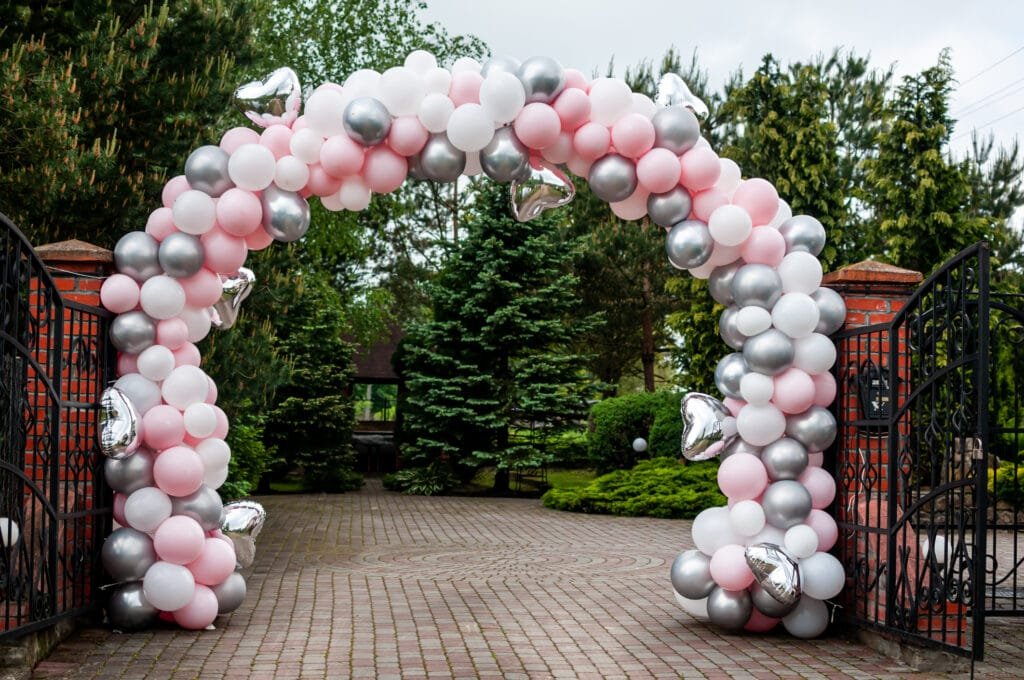
<path id="1" fill-rule="evenodd" d="M 43 678 L 909 678 L 844 639 L 729 636 L 675 604 L 689 522 L 577 515 L 537 501 L 260 499 L 249 596 L 216 631 L 85 629 Z M 979 677 L 1020 677 L 1008 625 Z"/>

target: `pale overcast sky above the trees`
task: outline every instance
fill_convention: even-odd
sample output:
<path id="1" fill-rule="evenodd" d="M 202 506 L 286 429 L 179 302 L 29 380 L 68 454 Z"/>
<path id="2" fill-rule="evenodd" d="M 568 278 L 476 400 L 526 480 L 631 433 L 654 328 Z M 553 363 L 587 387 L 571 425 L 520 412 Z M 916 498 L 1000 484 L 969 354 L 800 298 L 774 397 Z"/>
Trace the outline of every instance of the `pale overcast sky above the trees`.
<path id="1" fill-rule="evenodd" d="M 1009 143 L 1024 131 L 1024 2 L 1020 0 L 427 0 L 424 17 L 473 34 L 495 54 L 552 56 L 587 75 L 614 58 L 616 75 L 672 46 L 697 50 L 718 88 L 737 68 L 753 72 L 771 52 L 783 63 L 833 47 L 870 54 L 900 75 L 952 49 L 961 85 L 954 148 L 974 127 Z M 997 119 L 1001 119 L 998 120 Z M 997 121 L 997 122 L 996 122 Z"/>

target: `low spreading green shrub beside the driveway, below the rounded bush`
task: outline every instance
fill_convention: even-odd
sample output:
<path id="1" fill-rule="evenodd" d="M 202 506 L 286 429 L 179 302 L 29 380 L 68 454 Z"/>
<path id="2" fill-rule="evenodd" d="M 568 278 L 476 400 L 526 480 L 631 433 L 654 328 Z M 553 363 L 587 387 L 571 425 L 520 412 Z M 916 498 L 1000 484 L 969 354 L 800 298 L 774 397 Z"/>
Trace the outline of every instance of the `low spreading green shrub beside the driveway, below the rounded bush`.
<path id="1" fill-rule="evenodd" d="M 542 498 L 553 510 L 597 514 L 695 517 L 706 508 L 723 505 L 717 466 L 683 465 L 671 458 L 642 461 L 632 470 L 616 470 L 586 486 L 552 488 Z"/>

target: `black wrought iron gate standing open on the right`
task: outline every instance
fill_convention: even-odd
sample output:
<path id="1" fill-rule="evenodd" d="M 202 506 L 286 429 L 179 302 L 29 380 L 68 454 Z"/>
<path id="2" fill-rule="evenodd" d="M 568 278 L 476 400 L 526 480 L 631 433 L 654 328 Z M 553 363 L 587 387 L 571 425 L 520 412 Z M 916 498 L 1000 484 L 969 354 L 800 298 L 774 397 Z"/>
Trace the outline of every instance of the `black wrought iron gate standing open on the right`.
<path id="1" fill-rule="evenodd" d="M 891 323 L 838 336 L 844 612 L 981 658 L 1024 615 L 1024 306 L 973 246 Z M 1018 461 L 1021 467 L 1018 468 Z"/>

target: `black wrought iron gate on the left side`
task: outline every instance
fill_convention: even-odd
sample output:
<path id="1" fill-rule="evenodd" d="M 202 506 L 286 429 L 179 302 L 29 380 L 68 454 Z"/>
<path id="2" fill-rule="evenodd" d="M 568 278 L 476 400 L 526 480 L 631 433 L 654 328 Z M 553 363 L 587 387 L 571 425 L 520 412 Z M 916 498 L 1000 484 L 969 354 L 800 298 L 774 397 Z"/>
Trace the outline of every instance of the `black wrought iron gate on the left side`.
<path id="1" fill-rule="evenodd" d="M 0 638 L 96 601 L 110 522 L 95 440 L 108 324 L 61 299 L 0 215 Z"/>

